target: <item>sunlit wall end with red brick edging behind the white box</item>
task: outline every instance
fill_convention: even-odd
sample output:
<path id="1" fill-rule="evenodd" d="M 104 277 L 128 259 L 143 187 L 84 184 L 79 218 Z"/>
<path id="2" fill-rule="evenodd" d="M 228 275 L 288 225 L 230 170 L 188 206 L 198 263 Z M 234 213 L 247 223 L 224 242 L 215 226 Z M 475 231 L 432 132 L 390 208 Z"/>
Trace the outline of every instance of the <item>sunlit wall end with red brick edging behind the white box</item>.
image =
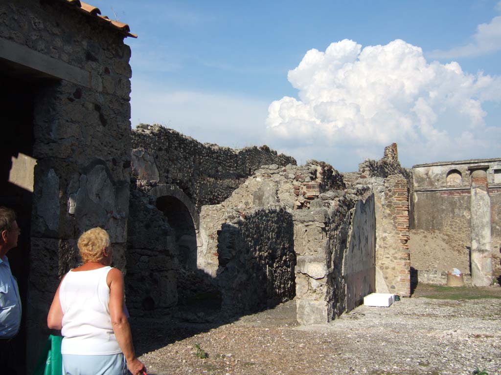
<path id="1" fill-rule="evenodd" d="M 410 296 L 409 201 L 407 180 L 392 175 L 384 180 L 384 197 L 376 251 L 378 292 Z M 382 277 L 381 277 L 382 276 Z"/>

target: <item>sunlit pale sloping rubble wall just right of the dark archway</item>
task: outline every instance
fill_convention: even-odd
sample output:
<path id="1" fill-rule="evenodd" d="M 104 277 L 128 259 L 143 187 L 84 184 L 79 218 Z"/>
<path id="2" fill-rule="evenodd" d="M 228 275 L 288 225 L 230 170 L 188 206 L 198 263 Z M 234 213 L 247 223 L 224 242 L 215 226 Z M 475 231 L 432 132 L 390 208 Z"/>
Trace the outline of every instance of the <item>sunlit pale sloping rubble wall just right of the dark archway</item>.
<path id="1" fill-rule="evenodd" d="M 344 182 L 331 165 L 312 160 L 306 165 L 262 165 L 220 204 L 204 205 L 200 211 L 198 264 L 215 276 L 218 267 L 217 231 L 235 223 L 250 210 L 284 207 L 289 210 L 324 207 L 324 201 L 343 195 Z M 325 191 L 325 192 L 324 192 Z"/>

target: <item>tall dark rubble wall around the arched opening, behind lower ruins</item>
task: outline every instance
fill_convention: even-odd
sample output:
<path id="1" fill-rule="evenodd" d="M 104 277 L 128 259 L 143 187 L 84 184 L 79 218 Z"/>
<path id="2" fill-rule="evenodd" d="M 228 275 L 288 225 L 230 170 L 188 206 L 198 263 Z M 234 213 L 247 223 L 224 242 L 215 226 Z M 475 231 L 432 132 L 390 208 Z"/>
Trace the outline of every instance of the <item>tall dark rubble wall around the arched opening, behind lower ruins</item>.
<path id="1" fill-rule="evenodd" d="M 129 235 L 128 259 L 131 262 L 126 276 L 128 300 L 132 306 L 131 313 L 158 315 L 177 303 L 178 281 L 187 281 L 175 277 L 176 272 L 183 270 L 179 267 L 179 249 L 175 248 L 173 243 L 175 233 L 165 216 L 155 207 L 156 198 L 162 197 L 161 191 L 165 190 L 167 195 L 172 195 L 171 190 L 176 190 L 177 194 L 173 197 L 185 204 L 194 218 L 198 213 L 193 203 L 199 204 L 197 208 L 202 210 L 204 207 L 214 207 L 202 204 L 224 200 L 261 164 L 273 162 L 283 165 L 296 161 L 292 157 L 278 155 L 267 146 L 232 150 L 214 144 L 202 144 L 160 125 L 140 124 L 133 131 L 132 138 L 134 178 L 129 230 L 131 233 L 142 233 L 137 238 L 144 236 L 148 241 L 137 243 L 136 236 Z M 217 231 L 226 220 L 217 216 L 217 209 L 208 210 L 213 211 L 213 214 L 206 220 L 206 227 L 200 228 L 199 231 L 198 222 L 194 222 L 198 247 L 196 265 L 199 270 L 208 274 L 211 282 L 216 282 Z M 151 218 L 148 218 L 148 213 Z M 158 215 L 162 216 L 163 223 L 158 219 Z M 151 222 L 158 222 L 158 225 L 152 225 Z M 169 229 L 162 228 L 160 224 Z M 162 234 L 166 230 L 169 234 Z M 170 238 L 167 243 L 163 236 Z M 156 272 L 149 274 L 144 265 L 150 261 L 150 257 L 156 258 L 160 255 L 168 259 L 159 263 L 161 269 L 155 262 Z M 141 279 L 143 282 L 136 286 Z M 169 296 L 162 296 L 164 292 L 169 292 Z"/>

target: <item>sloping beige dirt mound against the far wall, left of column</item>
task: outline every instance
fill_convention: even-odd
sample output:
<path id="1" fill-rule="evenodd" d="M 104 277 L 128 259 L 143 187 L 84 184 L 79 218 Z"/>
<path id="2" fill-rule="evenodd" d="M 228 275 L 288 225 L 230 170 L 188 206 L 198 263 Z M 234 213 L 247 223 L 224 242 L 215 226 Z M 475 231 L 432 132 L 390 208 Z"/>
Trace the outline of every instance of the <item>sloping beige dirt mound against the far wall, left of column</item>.
<path id="1" fill-rule="evenodd" d="M 469 248 L 457 239 L 436 230 L 410 231 L 410 265 L 414 269 L 469 271 Z"/>

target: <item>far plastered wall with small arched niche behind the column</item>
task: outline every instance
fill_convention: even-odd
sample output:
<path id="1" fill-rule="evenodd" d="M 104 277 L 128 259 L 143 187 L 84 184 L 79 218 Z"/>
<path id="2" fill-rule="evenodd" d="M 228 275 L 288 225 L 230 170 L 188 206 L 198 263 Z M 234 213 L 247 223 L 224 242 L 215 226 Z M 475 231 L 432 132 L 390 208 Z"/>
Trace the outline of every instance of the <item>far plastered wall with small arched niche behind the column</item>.
<path id="1" fill-rule="evenodd" d="M 491 214 L 491 252 L 494 277 L 501 275 L 501 182 L 495 182 L 494 170 L 501 169 L 499 159 L 465 160 L 457 162 L 419 164 L 413 166 L 412 229 L 433 233 L 439 231 L 458 248 L 458 256 L 468 259 L 471 246 L 470 185 L 468 167 L 487 164 L 487 182 Z M 458 171 L 460 180 L 447 183 L 450 171 Z M 459 243 L 457 245 L 457 243 Z M 469 269 L 460 269 L 469 282 Z M 419 280 L 433 269 L 418 270 Z M 423 275 L 423 277 L 421 277 Z M 430 276 L 431 277 L 431 276 Z M 435 277 L 433 283 L 444 283 L 445 277 Z"/>

